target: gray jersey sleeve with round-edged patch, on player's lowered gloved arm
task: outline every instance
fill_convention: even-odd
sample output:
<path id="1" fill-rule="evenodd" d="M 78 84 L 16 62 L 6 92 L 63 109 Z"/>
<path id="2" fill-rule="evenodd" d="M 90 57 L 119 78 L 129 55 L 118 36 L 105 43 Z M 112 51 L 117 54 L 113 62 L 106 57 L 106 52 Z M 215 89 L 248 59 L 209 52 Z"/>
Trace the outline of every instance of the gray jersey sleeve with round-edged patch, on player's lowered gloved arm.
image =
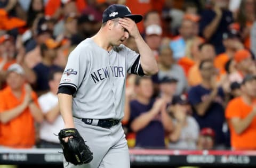
<path id="1" fill-rule="evenodd" d="M 75 48 L 68 57 L 66 68 L 62 74 L 59 88 L 73 87 L 76 91 L 82 84 L 86 71 L 86 54 L 82 55 L 79 48 Z"/>

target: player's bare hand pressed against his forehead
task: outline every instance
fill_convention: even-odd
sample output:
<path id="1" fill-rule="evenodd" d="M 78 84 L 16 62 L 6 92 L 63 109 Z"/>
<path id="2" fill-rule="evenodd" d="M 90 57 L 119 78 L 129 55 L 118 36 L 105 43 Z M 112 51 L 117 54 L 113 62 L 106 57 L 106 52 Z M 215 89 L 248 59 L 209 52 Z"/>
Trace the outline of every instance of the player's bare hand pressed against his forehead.
<path id="1" fill-rule="evenodd" d="M 130 18 L 119 18 L 119 24 L 121 24 L 121 26 L 129 32 L 131 37 L 138 38 L 140 36 L 140 32 L 138 30 L 138 27 L 132 19 L 130 19 Z"/>

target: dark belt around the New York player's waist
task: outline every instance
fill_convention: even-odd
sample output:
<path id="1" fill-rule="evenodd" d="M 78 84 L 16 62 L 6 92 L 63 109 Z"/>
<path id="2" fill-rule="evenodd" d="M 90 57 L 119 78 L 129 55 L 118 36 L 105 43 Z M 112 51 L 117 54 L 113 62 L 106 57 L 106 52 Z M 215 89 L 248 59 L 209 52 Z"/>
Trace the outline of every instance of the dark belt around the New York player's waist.
<path id="1" fill-rule="evenodd" d="M 82 119 L 85 124 L 99 126 L 103 128 L 110 128 L 120 122 L 116 119 Z"/>

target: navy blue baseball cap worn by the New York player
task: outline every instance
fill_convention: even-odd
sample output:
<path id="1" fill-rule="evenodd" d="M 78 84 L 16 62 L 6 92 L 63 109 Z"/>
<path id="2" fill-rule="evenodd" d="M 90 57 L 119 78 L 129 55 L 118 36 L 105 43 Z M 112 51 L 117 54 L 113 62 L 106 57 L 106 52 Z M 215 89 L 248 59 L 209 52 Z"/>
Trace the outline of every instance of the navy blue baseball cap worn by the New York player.
<path id="1" fill-rule="evenodd" d="M 103 12 L 102 18 L 102 23 L 115 18 L 131 18 L 135 23 L 138 23 L 143 17 L 139 14 L 132 14 L 129 7 L 125 5 L 113 4 Z"/>

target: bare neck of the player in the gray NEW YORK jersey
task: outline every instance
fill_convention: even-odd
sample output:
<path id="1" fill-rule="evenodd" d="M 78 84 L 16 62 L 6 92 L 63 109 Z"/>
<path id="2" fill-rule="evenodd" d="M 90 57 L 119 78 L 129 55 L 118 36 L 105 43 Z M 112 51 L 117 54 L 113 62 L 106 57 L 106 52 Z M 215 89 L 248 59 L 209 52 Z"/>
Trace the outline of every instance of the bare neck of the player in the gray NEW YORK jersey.
<path id="1" fill-rule="evenodd" d="M 104 39 L 108 39 L 108 38 L 106 37 L 106 33 L 103 33 L 102 30 L 99 30 L 99 32 L 92 37 L 92 40 L 94 41 L 95 44 L 97 44 L 98 46 L 100 46 L 101 48 L 109 52 L 113 48 L 113 46 L 111 46 L 109 42 Z"/>

